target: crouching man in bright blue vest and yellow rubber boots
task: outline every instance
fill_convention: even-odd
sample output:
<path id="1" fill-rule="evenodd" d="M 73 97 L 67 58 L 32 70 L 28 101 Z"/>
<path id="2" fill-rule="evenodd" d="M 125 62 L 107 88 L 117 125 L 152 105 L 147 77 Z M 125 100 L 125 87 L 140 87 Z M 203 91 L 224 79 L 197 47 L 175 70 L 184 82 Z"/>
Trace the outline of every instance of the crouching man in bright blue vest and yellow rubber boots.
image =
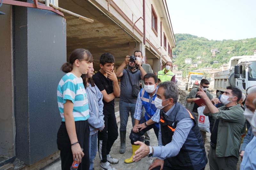
<path id="1" fill-rule="evenodd" d="M 136 108 L 134 113 L 134 126 L 132 128 L 130 139 L 132 144 L 132 156 L 125 159 L 125 163 L 132 163 L 132 157 L 134 152 L 139 149 L 140 145 L 134 144 L 136 141 L 141 141 L 141 137 L 145 132 L 150 129 L 154 129 L 156 137 L 158 138 L 159 131 L 159 109 L 155 107 L 154 100 L 156 98 L 157 91 L 157 77 L 153 73 L 148 73 L 144 76 L 144 88 L 142 88 L 138 94 Z M 141 112 L 145 108 L 145 115 L 141 117 Z"/>

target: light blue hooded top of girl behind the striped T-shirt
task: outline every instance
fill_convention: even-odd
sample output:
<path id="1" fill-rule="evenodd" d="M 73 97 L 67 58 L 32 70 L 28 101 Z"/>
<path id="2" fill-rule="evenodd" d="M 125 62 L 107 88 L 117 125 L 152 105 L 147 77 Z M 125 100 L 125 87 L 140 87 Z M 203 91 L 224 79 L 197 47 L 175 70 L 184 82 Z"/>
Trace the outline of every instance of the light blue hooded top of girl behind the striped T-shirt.
<path id="1" fill-rule="evenodd" d="M 95 85 L 92 87 L 91 83 L 86 87 L 86 94 L 89 102 L 89 114 L 88 118 L 90 135 L 98 132 L 96 129 L 103 130 L 104 126 L 104 115 L 103 115 L 103 95 Z"/>

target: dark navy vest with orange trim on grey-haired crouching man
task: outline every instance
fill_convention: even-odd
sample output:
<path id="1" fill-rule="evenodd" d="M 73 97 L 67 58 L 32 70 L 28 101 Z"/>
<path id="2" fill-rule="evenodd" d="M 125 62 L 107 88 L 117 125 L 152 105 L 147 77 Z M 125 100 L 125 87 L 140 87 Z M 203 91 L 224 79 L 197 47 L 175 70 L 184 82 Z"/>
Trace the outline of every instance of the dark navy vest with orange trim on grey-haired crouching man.
<path id="1" fill-rule="evenodd" d="M 165 115 L 161 110 L 160 118 L 163 146 L 172 142 L 172 136 L 179 121 L 184 118 L 191 118 L 194 121 L 194 125 L 178 155 L 164 161 L 167 161 L 168 165 L 175 169 L 202 169 L 205 167 L 208 160 L 195 115 L 177 102 L 170 115 Z"/>

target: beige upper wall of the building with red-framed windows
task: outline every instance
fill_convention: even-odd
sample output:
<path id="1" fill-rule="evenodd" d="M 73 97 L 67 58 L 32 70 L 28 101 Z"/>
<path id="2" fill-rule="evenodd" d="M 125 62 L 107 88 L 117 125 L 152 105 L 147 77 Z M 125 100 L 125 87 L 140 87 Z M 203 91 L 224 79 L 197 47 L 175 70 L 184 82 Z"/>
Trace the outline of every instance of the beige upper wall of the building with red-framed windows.
<path id="1" fill-rule="evenodd" d="M 93 0 L 91 0 L 93 1 Z M 143 20 L 140 19 L 136 25 L 135 29 L 132 29 L 131 23 L 127 22 L 127 18 L 132 21 L 132 23 L 135 23 L 137 19 L 140 17 L 143 18 L 143 1 L 142 0 L 94 0 L 98 4 L 100 4 L 101 7 L 103 7 L 105 10 L 108 10 L 109 16 L 113 18 L 116 22 L 118 22 L 121 26 L 124 26 L 125 29 L 129 33 L 132 33 L 134 35 L 134 38 L 136 38 L 140 43 L 143 42 Z M 124 12 L 126 19 L 124 16 L 120 15 L 118 11 L 116 11 L 112 6 L 111 2 L 114 2 L 118 8 Z M 110 2 L 110 4 L 108 4 Z M 168 43 L 170 44 L 171 48 L 175 46 L 175 42 L 173 40 L 173 33 L 171 30 L 171 21 L 168 15 L 167 6 L 164 3 L 165 1 L 159 1 L 159 0 L 145 0 L 145 26 L 146 26 L 146 46 L 150 48 L 152 51 L 156 53 L 156 55 L 165 55 L 163 56 L 163 61 L 171 61 L 170 56 L 168 55 Z M 157 15 L 157 36 L 152 30 L 151 25 L 151 4 L 154 7 L 154 10 Z M 167 14 L 167 15 L 166 15 Z M 160 33 L 160 19 L 162 20 L 162 46 L 161 46 L 161 33 Z M 138 30 L 136 30 L 136 27 Z M 164 49 L 164 33 L 166 35 L 166 50 Z M 153 47 L 154 46 L 154 47 Z M 156 48 L 159 48 L 158 51 L 156 51 Z M 147 55 L 147 54 L 146 54 Z"/>

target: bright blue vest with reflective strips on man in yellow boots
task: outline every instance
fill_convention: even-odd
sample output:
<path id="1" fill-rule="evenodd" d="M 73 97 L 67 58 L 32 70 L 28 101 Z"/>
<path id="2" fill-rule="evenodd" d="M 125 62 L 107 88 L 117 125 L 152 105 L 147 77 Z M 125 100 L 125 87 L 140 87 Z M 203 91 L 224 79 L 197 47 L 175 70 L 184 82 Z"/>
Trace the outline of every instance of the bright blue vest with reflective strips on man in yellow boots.
<path id="1" fill-rule="evenodd" d="M 158 89 L 158 87 L 156 87 L 156 91 L 157 91 L 157 89 Z M 155 98 L 156 98 L 156 95 L 154 95 L 151 98 L 152 102 L 149 103 L 149 94 L 148 94 L 148 92 L 146 92 L 144 88 L 140 90 L 140 99 L 142 100 L 142 105 L 144 106 L 144 108 L 146 110 L 146 113 L 145 113 L 145 116 L 144 116 L 146 121 L 151 119 L 151 117 L 153 115 L 155 115 L 155 113 L 156 113 L 157 108 L 156 108 L 155 103 L 154 103 Z M 159 123 L 158 122 L 154 123 L 154 125 L 156 126 L 156 128 L 159 129 Z"/>

